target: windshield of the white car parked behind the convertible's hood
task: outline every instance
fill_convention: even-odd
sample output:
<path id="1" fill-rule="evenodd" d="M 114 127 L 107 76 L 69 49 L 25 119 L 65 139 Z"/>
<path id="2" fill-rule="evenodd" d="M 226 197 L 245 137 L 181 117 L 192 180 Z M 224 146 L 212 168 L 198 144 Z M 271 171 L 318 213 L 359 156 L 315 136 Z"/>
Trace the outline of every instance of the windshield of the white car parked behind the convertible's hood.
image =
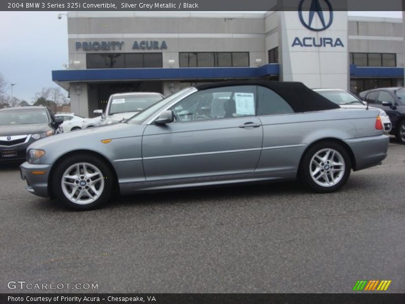
<path id="1" fill-rule="evenodd" d="M 154 95 L 121 95 L 112 97 L 110 115 L 125 112 L 139 112 L 161 99 L 160 94 Z"/>

